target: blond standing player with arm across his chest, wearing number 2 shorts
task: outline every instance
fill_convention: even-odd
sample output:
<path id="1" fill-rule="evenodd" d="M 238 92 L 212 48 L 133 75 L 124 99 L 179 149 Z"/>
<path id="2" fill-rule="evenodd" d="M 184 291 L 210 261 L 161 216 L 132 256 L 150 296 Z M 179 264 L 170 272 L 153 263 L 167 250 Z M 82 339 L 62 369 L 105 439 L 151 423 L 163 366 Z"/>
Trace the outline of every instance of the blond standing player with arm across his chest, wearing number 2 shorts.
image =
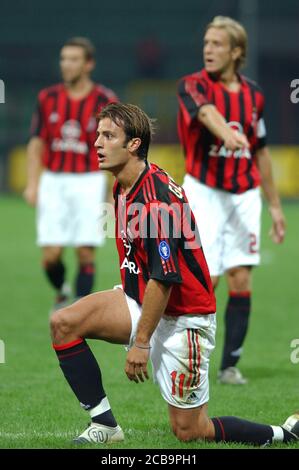
<path id="1" fill-rule="evenodd" d="M 229 299 L 218 374 L 245 384 L 235 367 L 248 329 L 251 270 L 259 264 L 261 185 L 281 243 L 285 220 L 275 188 L 258 85 L 239 74 L 247 50 L 243 26 L 217 16 L 204 36 L 205 68 L 179 83 L 178 132 L 186 158 L 184 189 L 195 214 L 213 285 L 226 274 Z"/>

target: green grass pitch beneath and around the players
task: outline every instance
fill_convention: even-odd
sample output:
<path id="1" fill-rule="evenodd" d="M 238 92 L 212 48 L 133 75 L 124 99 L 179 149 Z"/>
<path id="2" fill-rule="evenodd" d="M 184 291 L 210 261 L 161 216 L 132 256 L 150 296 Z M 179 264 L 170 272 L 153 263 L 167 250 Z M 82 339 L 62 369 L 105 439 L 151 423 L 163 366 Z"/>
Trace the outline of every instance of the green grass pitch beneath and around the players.
<path id="1" fill-rule="evenodd" d="M 299 206 L 285 204 L 284 208 L 288 234 L 282 246 L 275 246 L 268 238 L 270 217 L 266 210 L 263 213 L 263 262 L 254 271 L 253 312 L 239 364 L 249 378 L 244 387 L 216 383 L 226 302 L 224 280 L 217 290 L 218 331 L 210 369 L 210 416 L 235 415 L 279 424 L 299 409 L 299 364 L 290 360 L 290 343 L 299 338 Z M 5 364 L 0 364 L 0 448 L 72 448 L 72 437 L 85 428 L 89 416 L 69 390 L 51 348 L 48 312 L 53 293 L 40 268 L 34 210 L 17 197 L 2 196 L 0 211 L 0 339 L 5 342 L 6 353 Z M 75 263 L 70 249 L 66 260 L 71 280 Z M 119 282 L 114 240 L 98 250 L 97 266 L 97 290 Z M 126 436 L 124 443 L 113 448 L 242 447 L 177 441 L 170 432 L 167 405 L 158 388 L 152 381 L 137 385 L 126 378 L 124 349 L 99 341 L 90 344 Z"/>

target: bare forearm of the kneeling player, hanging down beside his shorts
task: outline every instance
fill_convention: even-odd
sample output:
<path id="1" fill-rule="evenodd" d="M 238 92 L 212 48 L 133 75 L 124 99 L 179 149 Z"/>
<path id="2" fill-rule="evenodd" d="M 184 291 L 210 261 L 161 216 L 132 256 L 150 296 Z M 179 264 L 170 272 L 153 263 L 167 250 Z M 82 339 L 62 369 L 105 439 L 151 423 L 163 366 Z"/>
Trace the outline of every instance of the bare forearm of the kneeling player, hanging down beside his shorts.
<path id="1" fill-rule="evenodd" d="M 136 344 L 148 345 L 166 309 L 170 293 L 171 287 L 154 279 L 148 282 L 142 304 L 142 315 L 137 328 Z"/>

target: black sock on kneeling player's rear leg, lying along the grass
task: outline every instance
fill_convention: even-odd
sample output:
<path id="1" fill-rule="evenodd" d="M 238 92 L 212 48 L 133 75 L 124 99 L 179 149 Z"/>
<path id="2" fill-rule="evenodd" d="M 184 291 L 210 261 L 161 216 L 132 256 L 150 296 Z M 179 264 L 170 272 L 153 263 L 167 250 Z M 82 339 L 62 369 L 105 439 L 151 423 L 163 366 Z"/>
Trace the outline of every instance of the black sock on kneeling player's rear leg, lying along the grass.
<path id="1" fill-rule="evenodd" d="M 243 444 L 271 444 L 273 429 L 267 424 L 253 423 L 234 416 L 212 418 L 215 427 L 215 441 L 238 442 Z"/>

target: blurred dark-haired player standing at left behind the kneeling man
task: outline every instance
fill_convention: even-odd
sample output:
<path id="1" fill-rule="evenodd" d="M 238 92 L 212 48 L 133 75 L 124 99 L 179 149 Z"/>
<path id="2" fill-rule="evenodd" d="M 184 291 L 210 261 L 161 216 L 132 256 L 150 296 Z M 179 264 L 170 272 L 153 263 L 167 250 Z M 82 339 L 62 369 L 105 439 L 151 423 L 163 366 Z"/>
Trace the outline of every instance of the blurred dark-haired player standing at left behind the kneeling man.
<path id="1" fill-rule="evenodd" d="M 75 296 L 91 292 L 95 247 L 103 243 L 100 203 L 106 178 L 99 171 L 94 140 L 96 115 L 117 101 L 108 88 L 93 83 L 95 48 L 86 38 L 72 38 L 61 49 L 63 83 L 42 90 L 28 144 L 28 182 L 24 197 L 37 204 L 37 243 L 56 290 L 55 306 L 66 300 L 63 248 L 73 246 L 78 259 Z M 41 175 L 41 176 L 40 176 Z"/>

